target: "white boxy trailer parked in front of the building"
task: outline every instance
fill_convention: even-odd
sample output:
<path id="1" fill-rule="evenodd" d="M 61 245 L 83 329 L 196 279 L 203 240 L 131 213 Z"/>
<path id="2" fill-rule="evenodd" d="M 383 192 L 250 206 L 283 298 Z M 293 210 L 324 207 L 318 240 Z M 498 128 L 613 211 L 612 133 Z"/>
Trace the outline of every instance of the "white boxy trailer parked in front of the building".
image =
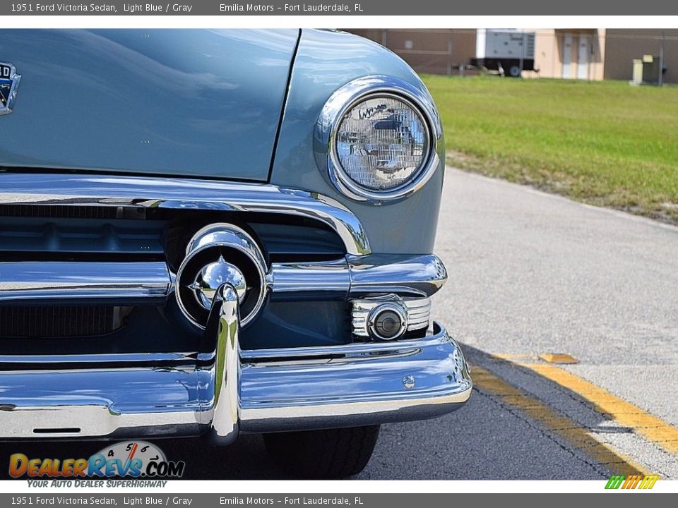
<path id="1" fill-rule="evenodd" d="M 535 32 L 477 30 L 475 59 L 470 63 L 492 71 L 504 71 L 513 78 L 519 78 L 522 71 L 534 71 Z"/>

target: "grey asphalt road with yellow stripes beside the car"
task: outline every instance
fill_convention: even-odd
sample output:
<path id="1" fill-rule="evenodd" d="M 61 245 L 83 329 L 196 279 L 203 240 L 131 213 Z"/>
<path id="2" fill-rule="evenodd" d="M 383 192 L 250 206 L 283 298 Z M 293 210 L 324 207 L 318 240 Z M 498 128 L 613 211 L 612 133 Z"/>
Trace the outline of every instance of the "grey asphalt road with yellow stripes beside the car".
<path id="1" fill-rule="evenodd" d="M 357 478 L 678 479 L 677 228 L 448 169 L 436 253 L 450 279 L 434 315 L 474 393 L 444 418 L 383 425 Z M 188 478 L 285 478 L 258 436 L 159 444 Z M 72 449 L 0 454 L 19 448 Z"/>

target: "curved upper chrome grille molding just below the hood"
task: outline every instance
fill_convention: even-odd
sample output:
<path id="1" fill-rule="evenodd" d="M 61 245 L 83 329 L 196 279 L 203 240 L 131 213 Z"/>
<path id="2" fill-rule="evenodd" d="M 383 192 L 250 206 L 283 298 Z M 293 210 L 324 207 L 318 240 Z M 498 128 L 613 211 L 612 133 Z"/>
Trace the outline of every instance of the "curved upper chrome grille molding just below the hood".
<path id="1" fill-rule="evenodd" d="M 36 189 L 40 189 L 37 192 Z M 83 174 L 0 173 L 0 204 L 116 206 L 297 215 L 329 226 L 352 255 L 370 253 L 367 234 L 340 202 L 262 183 Z"/>

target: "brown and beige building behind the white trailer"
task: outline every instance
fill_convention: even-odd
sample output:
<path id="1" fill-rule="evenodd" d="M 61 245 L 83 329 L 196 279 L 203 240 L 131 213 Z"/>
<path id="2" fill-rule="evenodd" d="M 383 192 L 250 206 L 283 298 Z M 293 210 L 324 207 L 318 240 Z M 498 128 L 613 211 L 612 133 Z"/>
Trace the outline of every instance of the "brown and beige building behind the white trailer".
<path id="1" fill-rule="evenodd" d="M 459 74 L 476 56 L 477 30 L 349 30 L 400 55 L 422 73 Z M 662 55 L 663 83 L 678 83 L 678 29 L 534 30 L 535 71 L 525 78 L 631 80 L 634 59 Z"/>

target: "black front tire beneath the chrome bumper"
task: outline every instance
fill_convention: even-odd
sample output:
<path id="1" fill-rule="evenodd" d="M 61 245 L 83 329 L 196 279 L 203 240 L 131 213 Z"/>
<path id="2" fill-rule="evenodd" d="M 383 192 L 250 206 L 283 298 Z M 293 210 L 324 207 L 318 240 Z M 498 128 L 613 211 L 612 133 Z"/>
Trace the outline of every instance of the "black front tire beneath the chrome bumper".
<path id="1" fill-rule="evenodd" d="M 364 469 L 379 437 L 379 425 L 263 435 L 268 453 L 288 473 L 302 478 L 346 478 Z"/>

